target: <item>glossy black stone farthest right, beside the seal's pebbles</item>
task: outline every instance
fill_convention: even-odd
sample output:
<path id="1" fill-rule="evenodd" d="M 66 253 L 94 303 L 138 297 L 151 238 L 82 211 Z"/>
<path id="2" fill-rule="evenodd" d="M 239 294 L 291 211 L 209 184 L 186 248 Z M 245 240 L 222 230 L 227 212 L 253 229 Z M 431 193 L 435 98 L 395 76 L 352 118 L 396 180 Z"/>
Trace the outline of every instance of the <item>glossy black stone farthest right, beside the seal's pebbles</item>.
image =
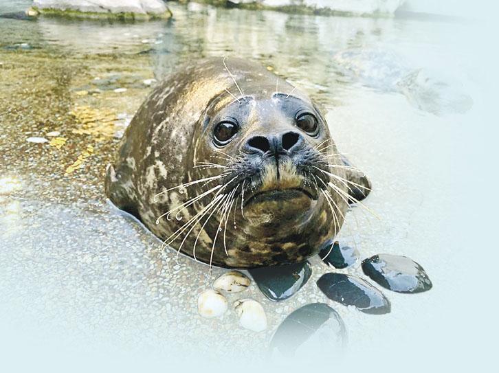
<path id="1" fill-rule="evenodd" d="M 372 256 L 362 261 L 362 271 L 381 286 L 398 293 L 421 293 L 432 289 L 423 267 L 406 256 Z"/>

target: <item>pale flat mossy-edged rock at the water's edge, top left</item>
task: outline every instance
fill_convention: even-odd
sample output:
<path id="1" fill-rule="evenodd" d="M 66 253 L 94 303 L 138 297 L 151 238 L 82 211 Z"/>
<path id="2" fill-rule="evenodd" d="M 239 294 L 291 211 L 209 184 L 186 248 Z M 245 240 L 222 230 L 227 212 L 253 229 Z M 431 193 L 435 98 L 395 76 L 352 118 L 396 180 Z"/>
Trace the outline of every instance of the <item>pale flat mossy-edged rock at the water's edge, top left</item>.
<path id="1" fill-rule="evenodd" d="M 167 19 L 172 15 L 162 0 L 34 0 L 28 11 L 89 18 Z"/>

